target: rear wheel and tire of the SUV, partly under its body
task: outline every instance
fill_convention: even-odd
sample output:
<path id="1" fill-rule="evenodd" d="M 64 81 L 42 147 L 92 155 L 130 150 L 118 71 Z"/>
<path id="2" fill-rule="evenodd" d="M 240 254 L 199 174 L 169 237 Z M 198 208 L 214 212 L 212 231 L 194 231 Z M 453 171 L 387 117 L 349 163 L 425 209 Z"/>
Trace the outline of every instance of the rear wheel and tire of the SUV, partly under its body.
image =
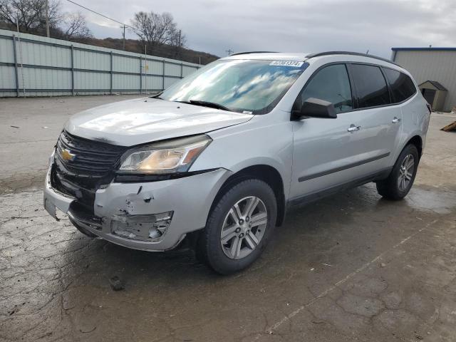
<path id="1" fill-rule="evenodd" d="M 393 170 L 385 180 L 377 182 L 377 192 L 386 199 L 403 199 L 410 191 L 418 170 L 420 155 L 415 145 L 407 145 L 396 160 Z M 412 165 L 413 162 L 413 165 Z M 408 171 L 404 165 L 411 165 Z"/>

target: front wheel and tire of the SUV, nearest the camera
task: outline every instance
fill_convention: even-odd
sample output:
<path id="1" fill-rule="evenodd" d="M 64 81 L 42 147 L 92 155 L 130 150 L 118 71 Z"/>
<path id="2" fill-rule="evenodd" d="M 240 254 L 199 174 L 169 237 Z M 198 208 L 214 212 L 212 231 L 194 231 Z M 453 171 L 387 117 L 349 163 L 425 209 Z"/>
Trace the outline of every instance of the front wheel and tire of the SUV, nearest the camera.
<path id="1" fill-rule="evenodd" d="M 247 268 L 266 247 L 276 217 L 276 197 L 269 185 L 256 179 L 237 183 L 214 203 L 199 236 L 198 259 L 219 274 L 233 274 Z"/>

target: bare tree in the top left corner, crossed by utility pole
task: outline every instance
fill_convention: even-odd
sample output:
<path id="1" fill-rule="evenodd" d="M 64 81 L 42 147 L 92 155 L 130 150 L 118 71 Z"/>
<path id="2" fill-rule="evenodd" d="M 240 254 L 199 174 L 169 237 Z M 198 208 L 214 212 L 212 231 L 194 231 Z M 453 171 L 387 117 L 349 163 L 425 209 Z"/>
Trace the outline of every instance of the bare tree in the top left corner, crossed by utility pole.
<path id="1" fill-rule="evenodd" d="M 32 33 L 46 26 L 46 0 L 0 0 L 0 20 Z M 61 21 L 59 3 L 49 1 L 49 26 Z"/>

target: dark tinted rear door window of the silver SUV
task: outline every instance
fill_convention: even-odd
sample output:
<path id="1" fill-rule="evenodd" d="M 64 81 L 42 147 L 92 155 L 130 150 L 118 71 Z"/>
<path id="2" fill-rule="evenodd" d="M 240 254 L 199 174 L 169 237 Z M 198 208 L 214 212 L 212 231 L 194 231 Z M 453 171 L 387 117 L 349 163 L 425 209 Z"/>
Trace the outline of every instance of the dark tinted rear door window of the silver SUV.
<path id="1" fill-rule="evenodd" d="M 356 92 L 358 93 L 359 108 L 388 105 L 391 103 L 388 86 L 386 86 L 385 78 L 378 66 L 352 64 L 351 76 L 355 82 Z"/>

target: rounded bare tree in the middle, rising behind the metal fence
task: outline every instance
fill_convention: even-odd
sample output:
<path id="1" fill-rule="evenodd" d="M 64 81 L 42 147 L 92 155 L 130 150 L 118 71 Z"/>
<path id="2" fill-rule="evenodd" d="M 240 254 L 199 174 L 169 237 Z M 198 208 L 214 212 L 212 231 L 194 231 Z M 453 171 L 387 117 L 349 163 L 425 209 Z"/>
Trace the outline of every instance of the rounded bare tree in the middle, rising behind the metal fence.
<path id="1" fill-rule="evenodd" d="M 131 23 L 140 40 L 151 48 L 162 44 L 175 45 L 178 41 L 180 30 L 177 29 L 172 15 L 167 12 L 156 14 L 152 11 L 141 11 L 135 14 Z M 181 41 L 183 38 L 185 37 L 181 35 Z"/>

